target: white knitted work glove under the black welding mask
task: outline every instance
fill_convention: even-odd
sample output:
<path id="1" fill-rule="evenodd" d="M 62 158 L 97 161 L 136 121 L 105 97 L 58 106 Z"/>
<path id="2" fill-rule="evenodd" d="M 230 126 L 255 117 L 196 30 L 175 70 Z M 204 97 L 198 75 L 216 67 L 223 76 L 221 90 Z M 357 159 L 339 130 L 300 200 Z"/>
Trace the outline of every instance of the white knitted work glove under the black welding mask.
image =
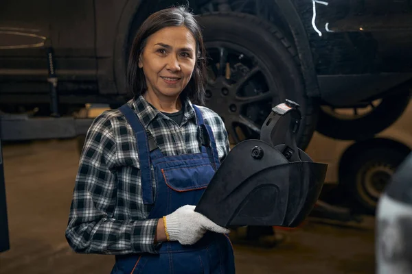
<path id="1" fill-rule="evenodd" d="M 165 232 L 168 240 L 177 240 L 181 245 L 193 245 L 210 230 L 217 233 L 229 233 L 230 230 L 220 227 L 202 214 L 195 212 L 195 206 L 182 206 L 173 213 L 164 216 Z"/>

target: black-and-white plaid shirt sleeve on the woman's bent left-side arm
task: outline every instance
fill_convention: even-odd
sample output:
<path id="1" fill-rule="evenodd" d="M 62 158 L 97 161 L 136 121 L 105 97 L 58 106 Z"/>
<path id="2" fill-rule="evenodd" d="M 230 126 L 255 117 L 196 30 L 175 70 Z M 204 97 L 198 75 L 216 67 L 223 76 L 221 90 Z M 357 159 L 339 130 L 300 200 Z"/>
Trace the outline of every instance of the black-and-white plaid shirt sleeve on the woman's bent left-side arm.
<path id="1" fill-rule="evenodd" d="M 65 236 L 78 253 L 157 253 L 158 219 L 117 220 L 117 178 L 113 126 L 102 114 L 93 121 L 84 143 Z"/>

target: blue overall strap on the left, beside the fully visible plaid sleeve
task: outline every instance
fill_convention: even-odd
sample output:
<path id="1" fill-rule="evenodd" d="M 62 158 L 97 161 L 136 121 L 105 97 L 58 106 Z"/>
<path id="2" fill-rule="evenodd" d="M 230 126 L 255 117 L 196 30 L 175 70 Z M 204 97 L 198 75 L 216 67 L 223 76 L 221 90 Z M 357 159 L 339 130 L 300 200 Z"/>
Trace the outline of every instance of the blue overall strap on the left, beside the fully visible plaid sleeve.
<path id="1" fill-rule="evenodd" d="M 137 153 L 141 172 L 141 192 L 144 204 L 153 203 L 152 175 L 150 173 L 150 149 L 146 130 L 141 125 L 139 118 L 128 105 L 122 105 L 119 110 L 124 114 L 126 120 L 135 132 L 137 140 Z"/>

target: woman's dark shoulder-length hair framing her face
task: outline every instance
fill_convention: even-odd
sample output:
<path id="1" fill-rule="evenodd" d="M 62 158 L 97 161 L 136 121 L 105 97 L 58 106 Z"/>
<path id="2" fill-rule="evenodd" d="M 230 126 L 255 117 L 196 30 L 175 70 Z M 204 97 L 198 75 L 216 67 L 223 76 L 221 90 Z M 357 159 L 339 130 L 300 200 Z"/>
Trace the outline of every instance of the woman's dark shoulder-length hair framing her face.
<path id="1" fill-rule="evenodd" d="M 185 6 L 159 10 L 150 15 L 139 27 L 133 40 L 127 66 L 128 92 L 132 93 L 135 97 L 144 94 L 147 88 L 143 69 L 139 68 L 139 57 L 146 46 L 147 38 L 164 27 L 179 26 L 187 27 L 196 40 L 196 64 L 192 78 L 181 93 L 181 96 L 189 97 L 193 103 L 204 105 L 206 77 L 205 46 L 203 45 L 200 25 Z"/>

